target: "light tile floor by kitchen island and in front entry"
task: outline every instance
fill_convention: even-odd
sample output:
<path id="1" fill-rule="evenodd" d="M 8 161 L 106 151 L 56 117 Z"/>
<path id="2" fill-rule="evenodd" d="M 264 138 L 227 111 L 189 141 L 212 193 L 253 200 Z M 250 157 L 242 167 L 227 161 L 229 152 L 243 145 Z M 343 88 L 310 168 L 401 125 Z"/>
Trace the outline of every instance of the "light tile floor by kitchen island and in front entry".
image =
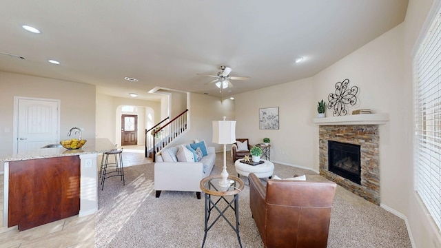
<path id="1" fill-rule="evenodd" d="M 144 157 L 143 145 L 123 148 L 124 167 L 152 162 L 150 158 Z M 98 157 L 98 163 L 101 163 L 101 156 Z M 3 175 L 0 175 L 0 209 L 3 213 Z M 0 223 L 3 223 L 3 214 Z M 94 229 L 94 215 L 81 218 L 72 216 L 25 231 L 18 231 L 17 227 L 0 227 L 0 248 L 94 247 Z"/>

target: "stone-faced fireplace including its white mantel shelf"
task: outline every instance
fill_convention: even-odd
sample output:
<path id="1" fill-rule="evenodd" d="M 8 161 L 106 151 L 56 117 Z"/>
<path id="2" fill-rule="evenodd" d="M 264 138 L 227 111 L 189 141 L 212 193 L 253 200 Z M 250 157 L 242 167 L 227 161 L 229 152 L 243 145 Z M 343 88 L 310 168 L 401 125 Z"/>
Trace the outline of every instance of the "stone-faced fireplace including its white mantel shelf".
<path id="1" fill-rule="evenodd" d="M 378 125 L 386 121 L 389 121 L 387 114 L 359 114 L 314 119 L 314 123 L 320 125 L 318 134 L 320 175 L 371 203 L 380 205 Z M 348 148 L 349 154 L 330 151 L 329 143 L 337 144 L 337 148 Z M 333 149 L 332 146 L 331 149 Z M 331 167 L 338 167 L 337 169 L 330 169 L 330 153 L 336 155 L 332 161 L 334 165 Z M 359 156 L 359 162 L 357 156 Z M 342 171 L 346 172 L 342 173 Z M 359 178 L 357 178 L 358 174 Z"/>

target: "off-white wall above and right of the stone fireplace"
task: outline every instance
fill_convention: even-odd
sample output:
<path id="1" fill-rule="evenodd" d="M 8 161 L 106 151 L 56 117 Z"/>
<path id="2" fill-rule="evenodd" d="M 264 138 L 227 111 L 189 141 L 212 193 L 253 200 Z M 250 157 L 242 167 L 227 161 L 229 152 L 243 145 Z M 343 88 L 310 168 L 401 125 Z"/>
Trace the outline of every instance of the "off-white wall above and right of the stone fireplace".
<path id="1" fill-rule="evenodd" d="M 401 104 L 406 99 L 403 78 L 403 25 L 389 30 L 377 39 L 341 59 L 334 65 L 314 76 L 315 98 L 325 99 L 335 93 L 338 81 L 349 79 L 349 87 L 358 86 L 358 107 L 349 107 L 349 113 L 358 108 L 370 108 L 376 113 L 389 113 L 390 121 L 380 125 L 380 194 L 381 203 L 406 211 L 408 180 L 412 169 L 406 163 L 409 158 L 403 152 L 403 145 L 409 143 L 411 133 L 405 131 L 405 112 Z M 327 116 L 332 116 L 327 110 Z M 314 132 L 318 141 L 318 131 Z M 318 143 L 317 143 L 318 144 Z M 318 167 L 318 154 L 314 154 L 314 167 Z M 407 169 L 403 169 L 407 166 Z M 397 176 L 400 174 L 400 176 Z"/>

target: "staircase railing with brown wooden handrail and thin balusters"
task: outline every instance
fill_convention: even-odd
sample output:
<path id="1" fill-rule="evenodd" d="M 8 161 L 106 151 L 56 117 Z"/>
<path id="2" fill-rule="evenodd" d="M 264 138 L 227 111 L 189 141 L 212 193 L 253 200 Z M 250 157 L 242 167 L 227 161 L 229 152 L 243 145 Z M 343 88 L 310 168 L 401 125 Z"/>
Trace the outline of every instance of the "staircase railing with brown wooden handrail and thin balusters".
<path id="1" fill-rule="evenodd" d="M 145 130 L 145 157 L 150 157 L 155 161 L 155 154 L 169 147 L 174 141 L 187 132 L 188 110 L 185 110 L 172 121 L 169 117 L 163 119 L 150 130 Z"/>

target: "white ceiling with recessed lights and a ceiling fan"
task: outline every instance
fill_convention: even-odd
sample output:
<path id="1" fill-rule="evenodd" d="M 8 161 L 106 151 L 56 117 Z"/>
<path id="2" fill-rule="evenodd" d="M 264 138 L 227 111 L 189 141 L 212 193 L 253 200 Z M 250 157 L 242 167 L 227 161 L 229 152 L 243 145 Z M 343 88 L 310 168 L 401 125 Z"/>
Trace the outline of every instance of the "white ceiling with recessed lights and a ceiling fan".
<path id="1" fill-rule="evenodd" d="M 227 65 L 230 76 L 251 77 L 232 81 L 227 97 L 313 76 L 404 21 L 407 2 L 1 0 L 0 52 L 25 60 L 0 55 L 0 71 L 148 99 L 155 87 L 221 96 L 196 74 Z"/>

